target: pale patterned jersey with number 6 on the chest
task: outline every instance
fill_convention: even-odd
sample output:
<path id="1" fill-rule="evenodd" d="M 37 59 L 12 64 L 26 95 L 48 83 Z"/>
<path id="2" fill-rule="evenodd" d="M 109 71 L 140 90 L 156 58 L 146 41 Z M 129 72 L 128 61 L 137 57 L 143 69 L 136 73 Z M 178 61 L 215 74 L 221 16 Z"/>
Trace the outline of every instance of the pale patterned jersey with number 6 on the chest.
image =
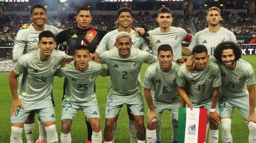
<path id="1" fill-rule="evenodd" d="M 151 64 L 145 71 L 142 86 L 151 89 L 151 93 L 154 93 L 153 99 L 156 101 L 172 103 L 178 99 L 176 80 L 179 64 L 171 63 L 169 72 L 162 71 L 159 62 Z"/>

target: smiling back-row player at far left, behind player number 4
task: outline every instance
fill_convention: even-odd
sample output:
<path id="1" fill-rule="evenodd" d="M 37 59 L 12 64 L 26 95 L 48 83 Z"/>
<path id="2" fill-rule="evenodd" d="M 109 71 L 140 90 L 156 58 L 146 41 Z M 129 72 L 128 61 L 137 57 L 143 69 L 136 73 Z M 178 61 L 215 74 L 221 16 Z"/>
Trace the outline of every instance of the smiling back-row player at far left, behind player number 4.
<path id="1" fill-rule="evenodd" d="M 54 35 L 57 35 L 59 32 L 61 32 L 61 29 L 57 29 L 51 25 L 46 25 L 45 21 L 48 18 L 48 15 L 46 14 L 46 10 L 44 6 L 37 4 L 32 6 L 31 13 L 30 13 L 30 19 L 32 20 L 32 24 L 25 24 L 21 30 L 18 31 L 16 39 L 14 41 L 14 47 L 13 47 L 13 60 L 17 61 L 22 55 L 29 53 L 31 50 L 38 49 L 37 42 L 38 42 L 38 36 L 39 34 L 44 30 L 51 31 Z M 20 82 L 22 75 L 20 76 Z M 51 99 L 54 103 L 54 96 L 53 91 L 51 93 Z M 25 122 L 24 128 L 25 128 L 25 134 L 27 137 L 27 142 L 32 143 L 33 142 L 33 130 L 34 130 L 34 112 L 31 112 L 28 116 L 27 121 Z M 39 125 L 39 139 L 37 140 L 38 143 L 45 142 L 45 128 L 42 125 L 40 119 L 38 119 L 38 125 Z"/>

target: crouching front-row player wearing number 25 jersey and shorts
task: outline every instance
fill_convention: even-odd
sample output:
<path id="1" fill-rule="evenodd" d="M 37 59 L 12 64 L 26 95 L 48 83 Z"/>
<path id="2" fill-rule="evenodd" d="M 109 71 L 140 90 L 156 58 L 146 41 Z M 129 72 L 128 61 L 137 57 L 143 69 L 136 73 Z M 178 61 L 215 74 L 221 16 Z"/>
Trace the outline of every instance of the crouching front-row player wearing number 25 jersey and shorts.
<path id="1" fill-rule="evenodd" d="M 91 140 L 95 143 L 102 141 L 100 128 L 100 112 L 94 85 L 97 76 L 107 76 L 103 65 L 90 61 L 90 49 L 81 45 L 75 49 L 75 61 L 57 70 L 56 75 L 67 78 L 65 96 L 62 103 L 61 142 L 71 142 L 70 129 L 72 121 L 81 109 L 92 128 Z"/>

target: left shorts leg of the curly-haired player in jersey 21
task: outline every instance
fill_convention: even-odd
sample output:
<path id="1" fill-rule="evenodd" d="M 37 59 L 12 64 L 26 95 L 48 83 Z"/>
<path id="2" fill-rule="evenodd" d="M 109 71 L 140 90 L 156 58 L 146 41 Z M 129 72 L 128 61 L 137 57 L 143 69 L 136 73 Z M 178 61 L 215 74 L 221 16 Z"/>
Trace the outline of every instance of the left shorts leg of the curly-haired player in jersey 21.
<path id="1" fill-rule="evenodd" d="M 220 118 L 233 116 L 235 104 L 231 98 L 225 98 L 225 97 L 220 98 L 218 105 L 219 105 Z"/>

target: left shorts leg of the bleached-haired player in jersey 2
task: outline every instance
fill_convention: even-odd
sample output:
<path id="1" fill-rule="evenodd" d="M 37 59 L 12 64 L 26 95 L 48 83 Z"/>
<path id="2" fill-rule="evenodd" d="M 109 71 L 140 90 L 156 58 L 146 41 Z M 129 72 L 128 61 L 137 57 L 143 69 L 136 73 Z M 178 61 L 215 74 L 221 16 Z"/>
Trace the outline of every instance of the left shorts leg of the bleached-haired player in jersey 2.
<path id="1" fill-rule="evenodd" d="M 106 104 L 105 118 L 115 118 L 123 107 L 125 97 L 109 95 Z"/>

